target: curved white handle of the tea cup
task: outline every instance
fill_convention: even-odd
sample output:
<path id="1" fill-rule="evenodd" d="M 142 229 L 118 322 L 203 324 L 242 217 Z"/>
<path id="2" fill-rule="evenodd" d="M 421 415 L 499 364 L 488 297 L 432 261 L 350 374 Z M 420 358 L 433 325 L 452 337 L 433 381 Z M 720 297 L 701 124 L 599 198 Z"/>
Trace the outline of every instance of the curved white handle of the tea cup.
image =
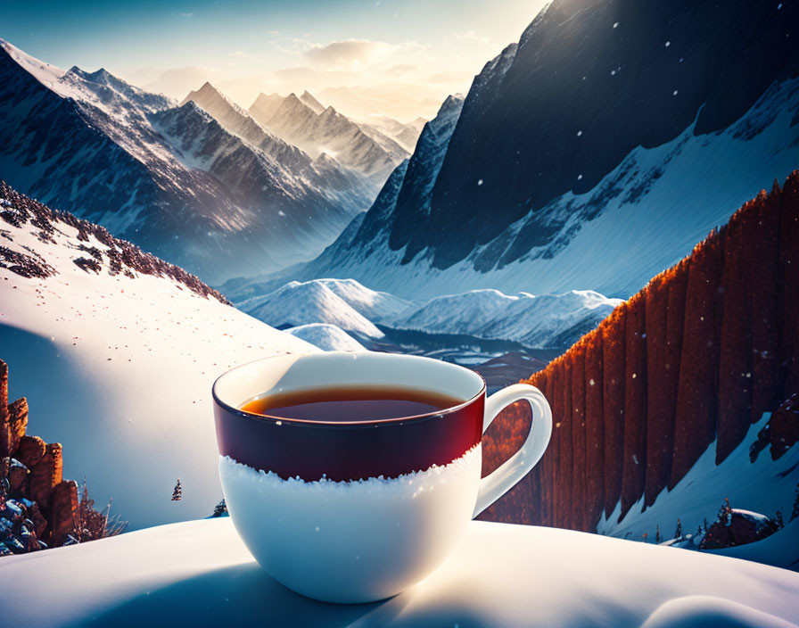
<path id="1" fill-rule="evenodd" d="M 513 456 L 480 481 L 473 518 L 513 488 L 515 483 L 535 467 L 547 450 L 549 437 L 552 435 L 552 410 L 549 409 L 543 393 L 530 384 L 507 386 L 501 391 L 494 392 L 485 401 L 482 433 L 485 434 L 499 412 L 515 401 L 527 401 L 530 404 L 532 410 L 530 432 L 527 434 L 527 440 Z"/>

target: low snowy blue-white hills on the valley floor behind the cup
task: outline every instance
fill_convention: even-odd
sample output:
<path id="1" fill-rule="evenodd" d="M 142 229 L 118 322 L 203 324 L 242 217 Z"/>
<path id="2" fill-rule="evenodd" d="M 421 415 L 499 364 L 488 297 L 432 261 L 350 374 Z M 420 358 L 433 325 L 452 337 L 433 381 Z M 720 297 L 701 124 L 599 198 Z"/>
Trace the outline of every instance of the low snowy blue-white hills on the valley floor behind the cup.
<path id="1" fill-rule="evenodd" d="M 381 338 L 380 325 L 426 334 L 466 335 L 564 349 L 595 328 L 621 301 L 592 291 L 507 295 L 498 290 L 411 302 L 370 290 L 354 279 L 290 282 L 237 306 L 268 325 L 284 328 L 330 324 L 367 338 Z"/>

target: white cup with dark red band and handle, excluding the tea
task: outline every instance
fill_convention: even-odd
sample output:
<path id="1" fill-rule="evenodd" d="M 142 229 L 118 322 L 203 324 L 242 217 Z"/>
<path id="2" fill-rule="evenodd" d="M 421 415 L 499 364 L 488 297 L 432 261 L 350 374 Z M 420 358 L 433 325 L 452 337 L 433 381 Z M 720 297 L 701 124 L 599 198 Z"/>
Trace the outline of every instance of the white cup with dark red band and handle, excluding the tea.
<path id="1" fill-rule="evenodd" d="M 342 422 L 265 417 L 240 407 L 263 392 L 391 386 L 462 402 L 431 414 Z M 252 556 L 309 598 L 389 598 L 430 574 L 468 522 L 540 460 L 552 433 L 541 392 L 486 398 L 482 376 L 436 359 L 331 351 L 234 368 L 213 385 L 219 477 Z M 515 401 L 532 409 L 522 448 L 481 479 L 483 432 Z"/>

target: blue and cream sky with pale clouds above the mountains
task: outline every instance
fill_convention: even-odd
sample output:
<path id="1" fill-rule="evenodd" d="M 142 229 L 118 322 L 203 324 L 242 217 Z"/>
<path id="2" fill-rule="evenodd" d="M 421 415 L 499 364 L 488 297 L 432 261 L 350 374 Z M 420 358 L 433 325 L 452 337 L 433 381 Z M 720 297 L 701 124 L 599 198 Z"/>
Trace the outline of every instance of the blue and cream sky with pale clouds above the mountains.
<path id="1" fill-rule="evenodd" d="M 249 107 L 309 90 L 356 117 L 431 118 L 544 0 L 5 2 L 0 37 L 182 99 L 206 80 Z"/>

